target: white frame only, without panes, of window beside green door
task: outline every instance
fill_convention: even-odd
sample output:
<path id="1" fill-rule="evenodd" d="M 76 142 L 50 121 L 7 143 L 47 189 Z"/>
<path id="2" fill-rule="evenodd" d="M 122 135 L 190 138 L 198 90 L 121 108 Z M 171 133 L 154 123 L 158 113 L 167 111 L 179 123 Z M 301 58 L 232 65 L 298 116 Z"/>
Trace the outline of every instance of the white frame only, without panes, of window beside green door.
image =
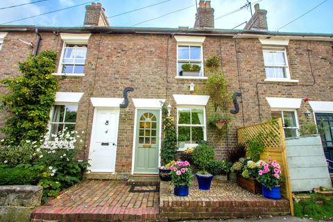
<path id="1" fill-rule="evenodd" d="M 194 125 L 194 124 L 179 124 L 179 108 L 190 108 L 190 109 L 203 109 L 203 125 Z M 191 114 L 190 114 L 191 118 Z M 177 146 L 178 146 L 178 126 L 189 126 L 189 127 L 203 127 L 203 140 L 207 140 L 207 123 L 206 123 L 206 108 L 203 105 L 178 105 L 177 106 Z M 192 135 L 190 135 L 192 137 Z M 191 138 L 190 138 L 191 139 Z M 192 139 L 191 139 L 192 140 Z M 179 148 L 178 151 L 185 151 L 186 148 L 198 146 L 198 144 L 185 144 L 184 148 Z"/>

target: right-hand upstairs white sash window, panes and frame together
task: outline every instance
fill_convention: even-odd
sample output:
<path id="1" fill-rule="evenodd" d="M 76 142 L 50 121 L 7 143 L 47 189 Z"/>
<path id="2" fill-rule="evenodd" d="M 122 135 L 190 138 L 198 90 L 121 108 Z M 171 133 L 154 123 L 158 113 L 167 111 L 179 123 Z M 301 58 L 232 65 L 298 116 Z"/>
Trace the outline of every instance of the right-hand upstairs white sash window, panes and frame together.
<path id="1" fill-rule="evenodd" d="M 264 49 L 267 79 L 290 79 L 286 49 Z"/>

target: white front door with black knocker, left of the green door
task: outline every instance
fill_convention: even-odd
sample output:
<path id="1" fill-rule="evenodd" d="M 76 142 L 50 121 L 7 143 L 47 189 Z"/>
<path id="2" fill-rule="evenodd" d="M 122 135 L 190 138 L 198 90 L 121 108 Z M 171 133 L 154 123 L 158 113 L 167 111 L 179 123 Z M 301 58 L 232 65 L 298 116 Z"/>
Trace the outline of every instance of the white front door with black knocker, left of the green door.
<path id="1" fill-rule="evenodd" d="M 89 148 L 89 170 L 114 173 L 117 155 L 119 109 L 95 108 Z"/>

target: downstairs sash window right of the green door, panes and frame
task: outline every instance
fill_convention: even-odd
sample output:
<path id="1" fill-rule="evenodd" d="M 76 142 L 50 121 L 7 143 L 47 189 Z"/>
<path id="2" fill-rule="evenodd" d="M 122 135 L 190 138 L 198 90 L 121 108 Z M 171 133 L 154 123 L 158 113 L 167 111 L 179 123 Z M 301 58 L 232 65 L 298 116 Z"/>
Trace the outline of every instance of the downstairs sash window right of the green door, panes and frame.
<path id="1" fill-rule="evenodd" d="M 197 146 L 201 140 L 206 140 L 205 108 L 178 107 L 177 137 L 178 148 Z"/>

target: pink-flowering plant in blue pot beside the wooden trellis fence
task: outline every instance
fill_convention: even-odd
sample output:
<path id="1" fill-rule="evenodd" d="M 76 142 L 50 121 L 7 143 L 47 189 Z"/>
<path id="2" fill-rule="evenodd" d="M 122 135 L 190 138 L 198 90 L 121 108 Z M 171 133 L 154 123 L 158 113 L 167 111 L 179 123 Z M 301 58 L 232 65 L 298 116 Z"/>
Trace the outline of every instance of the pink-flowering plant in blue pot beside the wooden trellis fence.
<path id="1" fill-rule="evenodd" d="M 278 200 L 281 198 L 280 181 L 281 167 L 276 160 L 259 161 L 257 180 L 262 184 L 262 195 L 266 198 Z"/>

